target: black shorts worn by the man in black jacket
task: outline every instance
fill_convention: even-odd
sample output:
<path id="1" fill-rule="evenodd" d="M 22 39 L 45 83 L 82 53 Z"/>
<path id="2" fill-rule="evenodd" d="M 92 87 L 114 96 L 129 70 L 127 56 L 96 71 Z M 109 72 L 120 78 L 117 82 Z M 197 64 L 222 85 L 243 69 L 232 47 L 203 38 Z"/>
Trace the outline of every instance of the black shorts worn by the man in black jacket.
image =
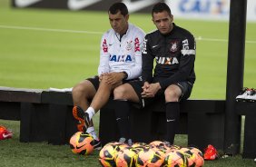
<path id="1" fill-rule="evenodd" d="M 158 91 L 153 98 L 143 98 L 142 93 L 143 93 L 143 81 L 132 81 L 129 82 L 135 93 L 137 93 L 140 102 L 139 106 L 140 108 L 143 108 L 144 106 L 147 106 L 149 103 L 153 103 L 154 100 L 159 99 L 159 98 L 164 98 L 164 90 Z M 182 96 L 180 97 L 180 101 L 186 100 L 190 97 L 192 93 L 192 86 L 193 84 L 190 82 L 178 82 L 178 83 L 173 83 L 179 86 L 182 90 Z M 138 104 L 135 104 L 137 106 Z"/>

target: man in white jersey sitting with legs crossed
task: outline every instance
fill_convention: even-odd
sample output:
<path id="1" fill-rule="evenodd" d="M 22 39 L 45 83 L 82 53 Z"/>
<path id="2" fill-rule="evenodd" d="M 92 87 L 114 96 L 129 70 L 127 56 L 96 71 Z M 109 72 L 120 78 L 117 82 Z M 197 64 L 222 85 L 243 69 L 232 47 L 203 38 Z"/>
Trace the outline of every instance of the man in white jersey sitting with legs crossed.
<path id="1" fill-rule="evenodd" d="M 108 15 L 112 29 L 102 37 L 98 75 L 78 83 L 72 91 L 77 128 L 93 135 L 94 148 L 101 144 L 92 117 L 108 102 L 116 87 L 142 74 L 143 30 L 128 23 L 128 9 L 123 3 L 113 4 Z"/>

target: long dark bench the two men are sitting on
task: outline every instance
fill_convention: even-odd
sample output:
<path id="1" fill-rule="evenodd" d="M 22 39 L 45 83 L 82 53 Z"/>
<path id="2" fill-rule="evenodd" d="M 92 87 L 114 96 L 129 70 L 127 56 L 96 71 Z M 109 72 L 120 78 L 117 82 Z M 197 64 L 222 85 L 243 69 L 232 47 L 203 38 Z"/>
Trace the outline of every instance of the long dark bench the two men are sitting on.
<path id="1" fill-rule="evenodd" d="M 21 121 L 21 142 L 68 143 L 77 131 L 72 107 L 71 93 L 0 87 L 0 119 Z M 164 139 L 164 107 L 163 100 L 143 110 L 132 107 L 130 117 L 133 142 Z M 188 134 L 188 144 L 201 150 L 208 144 L 222 149 L 224 109 L 223 100 L 182 102 L 177 133 Z M 112 98 L 101 110 L 99 131 L 103 144 L 117 141 L 119 138 Z"/>

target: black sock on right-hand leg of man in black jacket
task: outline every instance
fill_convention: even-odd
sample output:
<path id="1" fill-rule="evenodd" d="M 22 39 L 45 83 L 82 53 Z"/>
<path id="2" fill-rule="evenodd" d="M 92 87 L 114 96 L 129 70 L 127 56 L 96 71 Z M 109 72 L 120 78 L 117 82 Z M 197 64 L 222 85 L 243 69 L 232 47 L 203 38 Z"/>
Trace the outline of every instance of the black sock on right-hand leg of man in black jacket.
<path id="1" fill-rule="evenodd" d="M 180 119 L 180 103 L 169 102 L 166 105 L 166 141 L 173 144 Z"/>

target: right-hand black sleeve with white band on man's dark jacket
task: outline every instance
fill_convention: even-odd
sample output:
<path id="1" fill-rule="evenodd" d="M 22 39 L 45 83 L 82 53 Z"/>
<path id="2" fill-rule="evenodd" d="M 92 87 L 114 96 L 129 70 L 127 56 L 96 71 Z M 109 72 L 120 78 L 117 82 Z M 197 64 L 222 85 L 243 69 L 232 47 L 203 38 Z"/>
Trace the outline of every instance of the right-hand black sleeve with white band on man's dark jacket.
<path id="1" fill-rule="evenodd" d="M 195 61 L 196 46 L 193 36 L 182 41 L 181 60 L 177 73 L 160 82 L 162 89 L 165 89 L 172 83 L 187 81 L 192 73 Z"/>

